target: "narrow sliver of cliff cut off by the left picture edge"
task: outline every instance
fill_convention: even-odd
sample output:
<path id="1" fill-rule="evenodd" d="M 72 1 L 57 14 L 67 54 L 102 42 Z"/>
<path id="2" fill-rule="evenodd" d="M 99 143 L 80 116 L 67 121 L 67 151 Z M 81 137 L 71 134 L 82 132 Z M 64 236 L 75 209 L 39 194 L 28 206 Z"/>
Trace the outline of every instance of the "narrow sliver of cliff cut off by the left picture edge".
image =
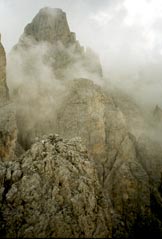
<path id="1" fill-rule="evenodd" d="M 14 158 L 17 139 L 15 110 L 6 83 L 6 54 L 0 42 L 0 159 Z"/>

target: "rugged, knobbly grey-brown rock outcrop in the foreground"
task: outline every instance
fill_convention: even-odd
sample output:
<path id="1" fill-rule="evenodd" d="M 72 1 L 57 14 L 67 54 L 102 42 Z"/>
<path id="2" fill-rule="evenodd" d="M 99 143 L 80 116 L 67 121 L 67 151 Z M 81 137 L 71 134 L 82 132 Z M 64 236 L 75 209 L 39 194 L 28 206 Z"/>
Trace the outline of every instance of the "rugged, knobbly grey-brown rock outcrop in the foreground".
<path id="1" fill-rule="evenodd" d="M 0 177 L 1 235 L 111 237 L 95 164 L 79 138 L 38 139 L 20 160 L 0 162 Z"/>

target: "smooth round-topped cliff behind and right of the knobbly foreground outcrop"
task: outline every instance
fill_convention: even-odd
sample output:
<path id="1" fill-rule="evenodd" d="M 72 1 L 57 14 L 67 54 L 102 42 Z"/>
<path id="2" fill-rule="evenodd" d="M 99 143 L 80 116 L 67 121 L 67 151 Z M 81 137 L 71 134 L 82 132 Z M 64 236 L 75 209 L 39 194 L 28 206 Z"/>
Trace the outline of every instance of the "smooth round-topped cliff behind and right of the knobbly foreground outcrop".
<path id="1" fill-rule="evenodd" d="M 129 238 L 138 217 L 142 221 L 150 215 L 150 192 L 149 178 L 138 162 L 135 138 L 124 115 L 101 87 L 76 79 L 60 107 L 56 126 L 61 135 L 77 134 L 84 140 L 111 208 L 113 237 Z"/>

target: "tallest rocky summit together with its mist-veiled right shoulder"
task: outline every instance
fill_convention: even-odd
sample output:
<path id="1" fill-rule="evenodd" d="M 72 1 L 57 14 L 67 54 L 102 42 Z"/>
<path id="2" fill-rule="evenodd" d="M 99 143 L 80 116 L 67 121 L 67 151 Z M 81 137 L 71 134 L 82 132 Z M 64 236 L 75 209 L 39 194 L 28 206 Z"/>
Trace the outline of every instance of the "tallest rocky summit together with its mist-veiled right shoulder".
<path id="1" fill-rule="evenodd" d="M 76 40 L 75 33 L 70 31 L 66 13 L 61 9 L 41 9 L 25 27 L 14 50 L 18 50 L 17 53 L 23 58 L 24 51 L 32 51 L 38 44 L 46 48 L 43 61 L 52 67 L 57 78 L 65 80 L 89 75 L 102 77 L 98 56 L 92 49 L 85 50 Z"/>

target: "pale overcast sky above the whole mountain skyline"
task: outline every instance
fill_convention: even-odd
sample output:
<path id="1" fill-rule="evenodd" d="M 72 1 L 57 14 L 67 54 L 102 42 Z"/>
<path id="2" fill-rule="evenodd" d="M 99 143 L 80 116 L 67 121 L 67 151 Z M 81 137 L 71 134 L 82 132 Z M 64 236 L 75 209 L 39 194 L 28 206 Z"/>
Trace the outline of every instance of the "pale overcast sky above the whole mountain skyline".
<path id="1" fill-rule="evenodd" d="M 128 88 L 131 79 L 137 91 L 137 82 L 146 79 L 147 94 L 162 99 L 162 0 L 0 0 L 0 32 L 7 52 L 45 6 L 67 13 L 71 31 L 81 45 L 99 53 L 110 78 L 120 83 L 124 79 Z"/>

